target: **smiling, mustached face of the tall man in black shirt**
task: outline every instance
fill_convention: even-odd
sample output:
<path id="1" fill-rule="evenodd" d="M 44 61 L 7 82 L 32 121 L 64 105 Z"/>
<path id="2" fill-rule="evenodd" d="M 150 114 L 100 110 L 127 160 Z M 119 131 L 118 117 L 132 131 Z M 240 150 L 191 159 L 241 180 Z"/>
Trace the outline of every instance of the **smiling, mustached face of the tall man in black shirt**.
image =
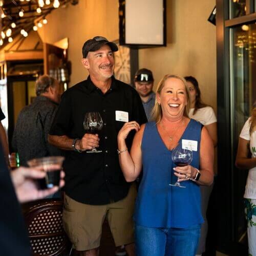
<path id="1" fill-rule="evenodd" d="M 108 45 L 102 46 L 95 52 L 89 52 L 82 59 L 83 66 L 88 69 L 90 76 L 98 80 L 110 78 L 114 72 L 114 54 Z"/>

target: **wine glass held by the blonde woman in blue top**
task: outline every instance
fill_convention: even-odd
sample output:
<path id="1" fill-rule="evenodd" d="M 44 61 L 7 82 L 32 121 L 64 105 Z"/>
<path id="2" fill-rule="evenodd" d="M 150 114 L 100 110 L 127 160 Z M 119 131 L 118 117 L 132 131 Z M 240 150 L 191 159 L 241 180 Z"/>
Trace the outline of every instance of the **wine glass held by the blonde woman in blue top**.
<path id="1" fill-rule="evenodd" d="M 186 166 L 190 164 L 193 160 L 193 151 L 191 148 L 183 148 L 179 143 L 172 152 L 172 160 L 176 166 Z M 185 187 L 181 186 L 180 182 L 176 182 L 175 184 L 169 184 L 170 186 L 175 187 Z"/>

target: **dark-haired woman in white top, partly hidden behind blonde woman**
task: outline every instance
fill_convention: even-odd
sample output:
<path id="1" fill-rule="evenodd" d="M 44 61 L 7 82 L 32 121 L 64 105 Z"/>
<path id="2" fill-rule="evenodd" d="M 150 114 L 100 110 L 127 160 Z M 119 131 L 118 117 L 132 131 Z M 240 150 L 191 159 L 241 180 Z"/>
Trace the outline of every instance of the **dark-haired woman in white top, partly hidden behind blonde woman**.
<path id="1" fill-rule="evenodd" d="M 193 76 L 185 76 L 184 78 L 187 81 L 189 94 L 190 94 L 190 106 L 189 106 L 188 116 L 189 118 L 193 118 L 199 121 L 206 127 L 214 143 L 214 146 L 216 147 L 217 146 L 217 118 L 214 113 L 214 110 L 211 108 L 211 106 L 203 103 L 201 99 L 201 91 L 200 91 L 197 79 Z M 209 198 L 210 198 L 210 194 L 213 186 L 214 186 L 214 183 L 212 183 L 210 186 L 200 186 L 201 199 L 202 199 L 202 215 L 204 218 L 204 223 L 201 226 L 201 236 L 200 236 L 199 245 L 197 249 L 197 255 L 201 255 L 203 252 L 205 252 L 206 237 L 208 232 L 208 222 L 206 218 L 206 212 L 207 212 L 208 202 L 209 202 Z"/>

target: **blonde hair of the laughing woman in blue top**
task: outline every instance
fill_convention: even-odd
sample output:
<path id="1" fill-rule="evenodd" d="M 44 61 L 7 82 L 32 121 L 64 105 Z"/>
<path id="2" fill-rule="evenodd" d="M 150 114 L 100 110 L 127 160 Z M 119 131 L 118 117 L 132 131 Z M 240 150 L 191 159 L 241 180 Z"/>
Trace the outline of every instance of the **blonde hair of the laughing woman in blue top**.
<path id="1" fill-rule="evenodd" d="M 169 78 L 177 78 L 179 80 L 181 80 L 184 85 L 185 85 L 185 89 L 186 89 L 186 96 L 187 96 L 187 105 L 186 105 L 186 108 L 184 110 L 184 113 L 183 115 L 188 117 L 188 111 L 189 111 L 189 105 L 190 105 L 190 95 L 189 95 L 189 88 L 187 86 L 187 82 L 186 80 L 181 77 L 181 76 L 178 76 L 178 75 L 171 75 L 171 74 L 167 74 L 165 75 L 162 80 L 159 82 L 158 86 L 157 86 L 157 90 L 156 90 L 156 93 L 157 94 L 160 94 L 163 87 L 164 87 L 164 84 L 165 84 L 165 81 Z M 161 105 L 158 104 L 157 102 L 157 97 L 156 97 L 156 100 L 155 100 L 155 105 L 154 105 L 154 108 L 152 110 L 152 119 L 154 121 L 156 121 L 156 123 L 159 123 L 160 120 L 162 119 L 162 116 L 163 116 L 163 113 L 162 113 L 162 108 L 161 108 Z"/>

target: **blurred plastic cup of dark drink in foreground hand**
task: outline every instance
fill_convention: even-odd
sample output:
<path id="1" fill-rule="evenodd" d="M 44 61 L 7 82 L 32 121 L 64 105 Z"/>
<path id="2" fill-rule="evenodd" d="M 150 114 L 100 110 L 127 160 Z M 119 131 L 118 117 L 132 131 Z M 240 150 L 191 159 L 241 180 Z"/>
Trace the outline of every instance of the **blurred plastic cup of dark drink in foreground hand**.
<path id="1" fill-rule="evenodd" d="M 44 180 L 39 182 L 40 187 L 52 188 L 54 186 L 59 186 L 60 170 L 62 169 L 63 160 L 64 157 L 52 156 L 31 159 L 27 163 L 30 167 L 38 167 L 46 172 Z"/>

